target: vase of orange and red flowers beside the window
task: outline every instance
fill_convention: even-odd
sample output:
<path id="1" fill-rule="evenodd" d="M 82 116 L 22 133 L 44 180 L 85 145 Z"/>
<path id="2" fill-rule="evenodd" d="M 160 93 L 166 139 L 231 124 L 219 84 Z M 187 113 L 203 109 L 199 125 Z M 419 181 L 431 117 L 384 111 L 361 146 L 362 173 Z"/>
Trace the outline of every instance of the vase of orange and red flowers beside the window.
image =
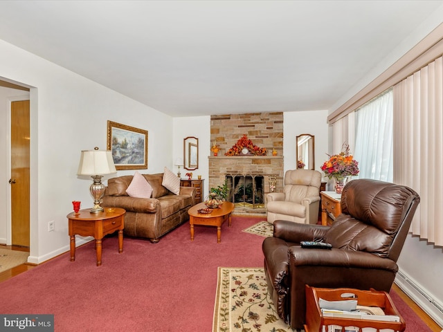
<path id="1" fill-rule="evenodd" d="M 343 151 L 339 154 L 330 156 L 320 167 L 328 178 L 333 178 L 335 183 L 335 191 L 337 194 L 343 192 L 347 179 L 350 176 L 359 174 L 359 163 L 349 152 L 349 146 L 345 145 Z"/>

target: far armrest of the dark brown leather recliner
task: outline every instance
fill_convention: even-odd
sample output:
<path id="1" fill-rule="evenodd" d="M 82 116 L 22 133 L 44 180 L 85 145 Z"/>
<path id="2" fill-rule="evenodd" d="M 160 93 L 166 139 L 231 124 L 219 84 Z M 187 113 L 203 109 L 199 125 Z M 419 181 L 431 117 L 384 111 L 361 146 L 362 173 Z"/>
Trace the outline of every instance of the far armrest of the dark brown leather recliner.
<path id="1" fill-rule="evenodd" d="M 329 230 L 329 226 L 276 220 L 274 222 L 273 236 L 292 243 L 300 243 L 300 241 L 320 241 L 325 237 L 327 230 Z"/>

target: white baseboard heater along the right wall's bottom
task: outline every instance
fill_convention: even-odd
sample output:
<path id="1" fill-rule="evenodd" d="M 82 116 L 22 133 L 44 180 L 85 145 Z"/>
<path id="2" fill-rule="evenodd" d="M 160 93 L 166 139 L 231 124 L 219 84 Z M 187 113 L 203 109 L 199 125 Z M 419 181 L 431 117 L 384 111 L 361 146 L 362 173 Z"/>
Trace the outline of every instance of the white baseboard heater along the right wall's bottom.
<path id="1" fill-rule="evenodd" d="M 413 299 L 417 306 L 422 308 L 437 324 L 443 326 L 443 305 L 424 291 L 414 279 L 408 277 L 406 273 L 399 271 L 395 277 L 395 284 L 408 297 Z"/>

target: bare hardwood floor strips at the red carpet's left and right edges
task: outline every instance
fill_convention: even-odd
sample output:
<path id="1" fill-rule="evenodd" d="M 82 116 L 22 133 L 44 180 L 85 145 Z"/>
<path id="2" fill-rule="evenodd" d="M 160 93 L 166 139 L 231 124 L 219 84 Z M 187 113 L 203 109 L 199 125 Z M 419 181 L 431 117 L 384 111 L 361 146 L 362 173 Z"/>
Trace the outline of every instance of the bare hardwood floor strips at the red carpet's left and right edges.
<path id="1" fill-rule="evenodd" d="M 17 247 L 17 246 L 0 246 L 0 248 L 29 252 L 29 248 Z M 4 282 L 12 277 L 15 277 L 16 275 L 19 275 L 20 273 L 30 270 L 32 268 L 35 268 L 35 265 L 21 264 L 19 266 L 15 266 L 15 268 L 11 268 L 10 270 L 6 270 L 6 271 L 0 273 L 0 283 Z M 417 306 L 417 304 L 415 304 L 415 302 L 413 302 L 413 300 L 410 299 L 410 297 L 408 297 L 408 295 L 406 295 L 403 291 L 401 291 L 399 286 L 397 286 L 396 284 L 393 284 L 392 288 L 395 289 L 395 291 L 401 297 L 401 299 L 403 299 L 404 302 L 406 302 L 406 304 L 408 304 L 408 306 L 410 306 L 410 308 L 412 308 L 413 311 L 415 313 L 417 313 L 417 315 L 426 323 L 426 325 L 429 326 L 429 329 L 431 329 L 433 332 L 442 332 L 442 327 L 440 327 L 436 322 L 434 322 L 434 320 L 431 317 L 429 317 L 422 310 L 422 308 Z"/>

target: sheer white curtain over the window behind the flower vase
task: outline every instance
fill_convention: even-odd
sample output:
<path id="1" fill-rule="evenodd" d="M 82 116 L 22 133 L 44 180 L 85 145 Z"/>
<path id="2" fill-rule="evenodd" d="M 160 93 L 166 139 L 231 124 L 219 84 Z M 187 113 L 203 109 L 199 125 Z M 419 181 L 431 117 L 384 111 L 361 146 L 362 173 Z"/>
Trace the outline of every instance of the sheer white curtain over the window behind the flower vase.
<path id="1" fill-rule="evenodd" d="M 359 178 L 393 181 L 392 89 L 355 112 L 354 159 Z"/>

